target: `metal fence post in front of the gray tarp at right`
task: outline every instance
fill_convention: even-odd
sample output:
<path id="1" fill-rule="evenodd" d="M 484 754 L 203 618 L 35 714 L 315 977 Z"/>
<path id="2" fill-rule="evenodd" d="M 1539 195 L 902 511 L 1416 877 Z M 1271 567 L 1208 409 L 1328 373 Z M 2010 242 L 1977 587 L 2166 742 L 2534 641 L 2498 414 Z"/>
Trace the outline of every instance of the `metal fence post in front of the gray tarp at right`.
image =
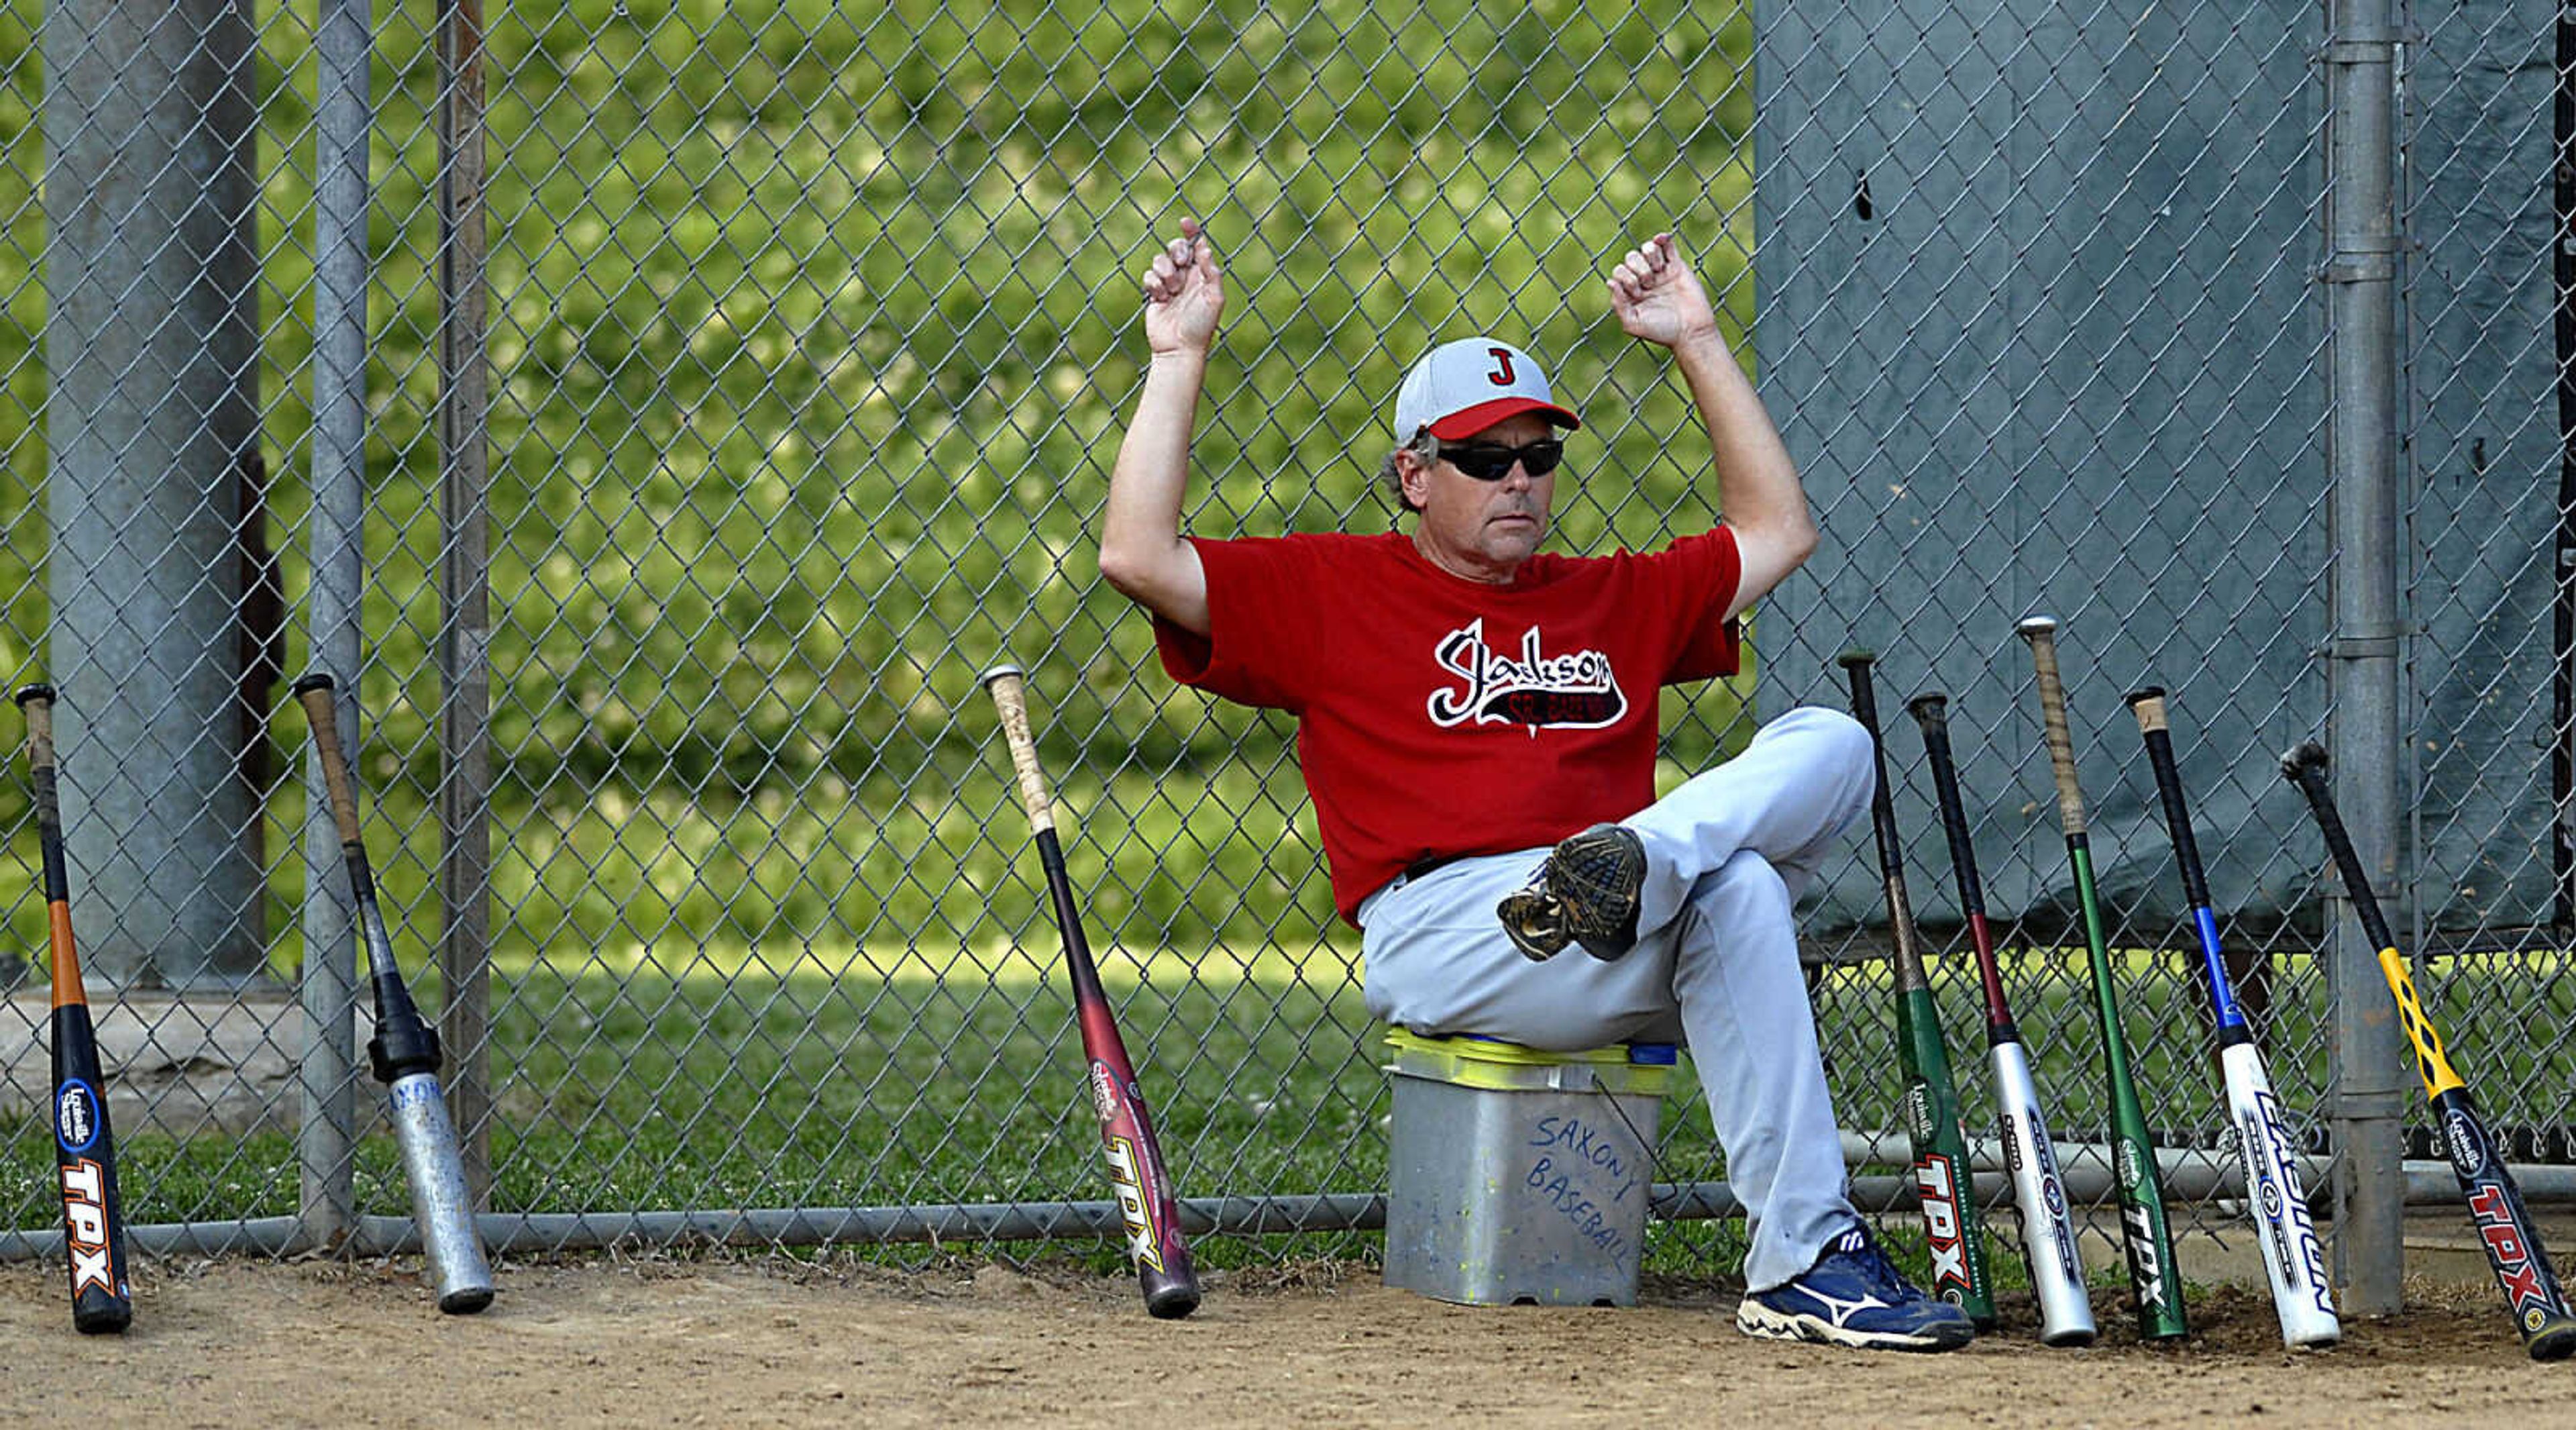
<path id="1" fill-rule="evenodd" d="M 2393 0 L 2334 0 L 2326 15 L 2326 304 L 2334 474 L 2334 799 L 2385 889 L 2398 855 L 2396 544 L 2396 49 Z M 2334 902 L 2334 1242 L 2344 1311 L 2393 1314 L 2403 1278 L 2403 1064 L 2396 1005 L 2352 904 Z"/>

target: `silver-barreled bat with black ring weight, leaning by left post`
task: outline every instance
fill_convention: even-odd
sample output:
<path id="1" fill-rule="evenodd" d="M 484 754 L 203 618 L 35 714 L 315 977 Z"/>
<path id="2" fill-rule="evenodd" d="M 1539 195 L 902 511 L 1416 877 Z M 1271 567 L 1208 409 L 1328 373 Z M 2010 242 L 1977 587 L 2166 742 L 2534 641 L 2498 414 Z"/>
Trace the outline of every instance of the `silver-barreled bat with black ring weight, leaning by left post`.
<path id="1" fill-rule="evenodd" d="M 402 1172 L 412 1183 L 412 1224 L 420 1226 L 420 1257 L 438 1283 L 438 1309 L 464 1317 L 492 1304 L 492 1268 L 474 1232 L 474 1196 L 466 1190 L 466 1165 L 456 1149 L 456 1123 L 438 1087 L 438 1028 L 412 1005 L 412 989 L 394 961 L 394 940 L 384 933 L 376 907 L 376 873 L 366 863 L 358 835 L 358 788 L 340 750 L 340 716 L 332 703 L 332 678 L 314 672 L 294 683 L 304 719 L 322 758 L 322 783 L 330 786 L 332 822 L 340 825 L 340 863 L 358 902 L 358 933 L 368 982 L 376 992 L 376 1036 L 366 1056 L 384 1082 L 394 1116 L 394 1141 L 402 1147 Z"/>

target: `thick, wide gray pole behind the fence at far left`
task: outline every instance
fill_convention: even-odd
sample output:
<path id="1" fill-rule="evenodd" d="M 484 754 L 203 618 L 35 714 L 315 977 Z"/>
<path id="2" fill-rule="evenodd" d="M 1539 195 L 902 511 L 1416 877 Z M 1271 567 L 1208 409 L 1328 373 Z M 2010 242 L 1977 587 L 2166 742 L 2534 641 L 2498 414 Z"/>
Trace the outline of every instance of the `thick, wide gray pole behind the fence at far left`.
<path id="1" fill-rule="evenodd" d="M 260 420 L 252 49 L 232 0 L 44 5 L 49 678 L 98 992 L 263 984 L 237 721 L 237 474 Z"/>

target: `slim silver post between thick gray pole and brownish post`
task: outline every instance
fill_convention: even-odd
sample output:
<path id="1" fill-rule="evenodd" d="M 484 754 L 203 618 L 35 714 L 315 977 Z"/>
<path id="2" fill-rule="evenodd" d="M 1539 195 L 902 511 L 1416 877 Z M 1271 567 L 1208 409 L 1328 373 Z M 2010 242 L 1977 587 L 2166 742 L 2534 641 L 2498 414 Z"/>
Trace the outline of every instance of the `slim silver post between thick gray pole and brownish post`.
<path id="1" fill-rule="evenodd" d="M 366 593 L 366 0 L 332 0 L 314 36 L 322 108 L 314 121 L 314 510 L 307 657 L 340 680 L 340 729 L 355 752 L 358 613 Z M 355 765 L 355 758 L 350 760 Z M 304 752 L 304 1023 L 299 1062 L 307 1234 L 332 1244 L 355 1226 L 358 966 L 340 832 L 322 799 L 322 760 Z"/>

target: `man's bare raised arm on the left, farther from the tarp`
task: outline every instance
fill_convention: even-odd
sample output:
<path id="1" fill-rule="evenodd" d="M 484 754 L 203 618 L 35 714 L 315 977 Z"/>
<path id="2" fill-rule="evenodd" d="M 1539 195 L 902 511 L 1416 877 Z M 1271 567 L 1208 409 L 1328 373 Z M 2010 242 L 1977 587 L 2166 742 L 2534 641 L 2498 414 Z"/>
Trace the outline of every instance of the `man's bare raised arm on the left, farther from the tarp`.
<path id="1" fill-rule="evenodd" d="M 1180 237 L 1162 245 L 1144 276 L 1144 394 L 1118 443 L 1100 515 L 1100 575 L 1136 605 L 1200 636 L 1208 634 L 1208 575 L 1198 549 L 1180 539 L 1180 497 L 1224 307 L 1216 250 L 1198 219 L 1182 219 Z"/>

